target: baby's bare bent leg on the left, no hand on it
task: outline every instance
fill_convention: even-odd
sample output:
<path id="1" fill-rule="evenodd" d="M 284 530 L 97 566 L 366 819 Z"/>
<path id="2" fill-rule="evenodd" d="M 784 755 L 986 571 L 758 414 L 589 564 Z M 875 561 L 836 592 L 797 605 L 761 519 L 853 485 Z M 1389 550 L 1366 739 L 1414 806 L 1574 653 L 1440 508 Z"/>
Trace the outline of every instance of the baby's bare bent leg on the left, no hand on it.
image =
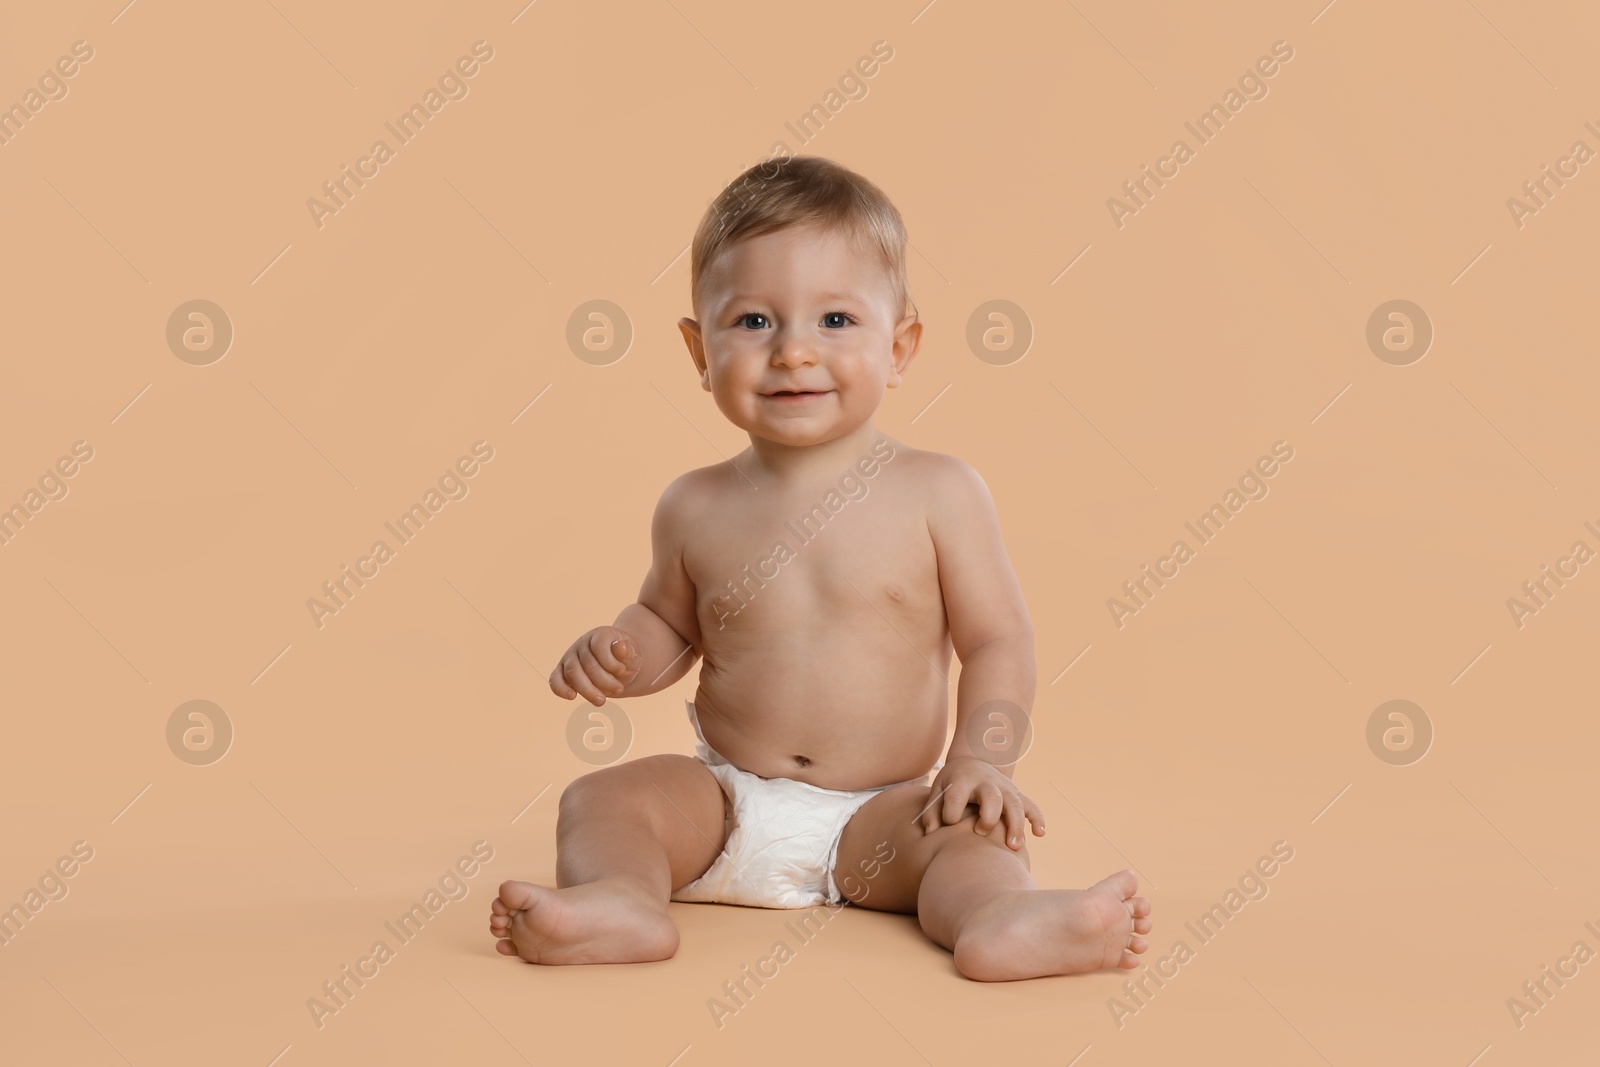
<path id="1" fill-rule="evenodd" d="M 562 793 L 555 885 L 501 885 L 496 949 L 530 963 L 643 963 L 678 950 L 672 889 L 706 873 L 723 846 L 722 785 L 683 755 L 584 774 Z"/>

